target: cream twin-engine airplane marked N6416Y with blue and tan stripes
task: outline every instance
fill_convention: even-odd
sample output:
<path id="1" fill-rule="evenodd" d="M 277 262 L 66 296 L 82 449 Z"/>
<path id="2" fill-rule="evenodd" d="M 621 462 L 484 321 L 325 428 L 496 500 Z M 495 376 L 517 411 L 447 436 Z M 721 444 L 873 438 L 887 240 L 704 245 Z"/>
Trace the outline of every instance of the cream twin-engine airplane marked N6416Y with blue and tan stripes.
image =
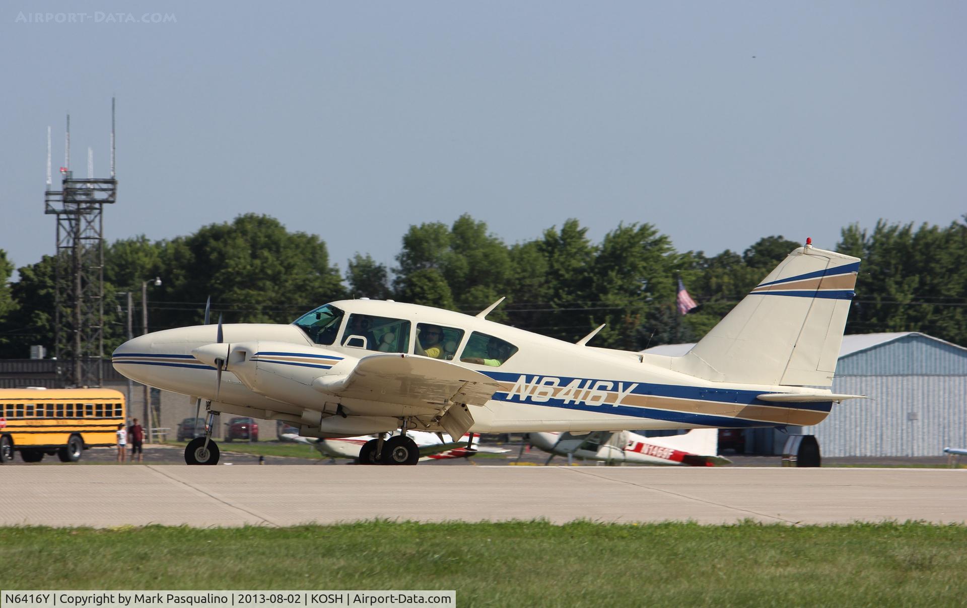
<path id="1" fill-rule="evenodd" d="M 212 325 L 122 344 L 115 368 L 207 401 L 285 420 L 305 437 L 376 435 L 384 464 L 416 464 L 411 430 L 564 432 L 811 425 L 833 402 L 860 260 L 797 248 L 682 357 L 594 348 L 429 306 L 325 304 L 291 325 Z M 600 329 L 600 328 L 599 328 Z M 815 388 L 825 387 L 825 388 Z M 209 424 L 208 428 L 213 428 Z M 388 439 L 396 429 L 400 434 Z M 216 464 L 210 434 L 185 450 Z"/>

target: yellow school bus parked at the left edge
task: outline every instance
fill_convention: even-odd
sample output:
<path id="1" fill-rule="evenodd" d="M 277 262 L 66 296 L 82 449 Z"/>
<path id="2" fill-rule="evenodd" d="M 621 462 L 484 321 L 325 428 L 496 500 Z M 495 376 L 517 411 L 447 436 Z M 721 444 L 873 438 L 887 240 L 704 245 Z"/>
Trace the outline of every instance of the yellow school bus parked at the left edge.
<path id="1" fill-rule="evenodd" d="M 127 426 L 118 391 L 0 389 L 0 464 L 15 451 L 25 462 L 76 462 L 84 449 L 116 446 L 118 424 Z"/>

